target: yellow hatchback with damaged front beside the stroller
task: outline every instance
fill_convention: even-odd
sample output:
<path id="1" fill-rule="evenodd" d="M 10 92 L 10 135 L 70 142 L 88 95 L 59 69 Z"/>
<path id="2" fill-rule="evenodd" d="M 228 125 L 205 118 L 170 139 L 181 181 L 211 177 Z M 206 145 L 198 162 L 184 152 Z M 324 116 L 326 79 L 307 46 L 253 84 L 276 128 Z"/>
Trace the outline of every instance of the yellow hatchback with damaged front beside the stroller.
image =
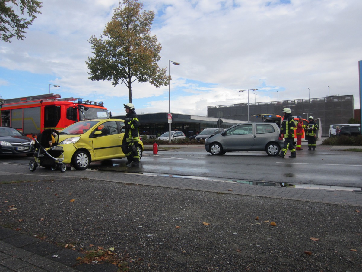
<path id="1" fill-rule="evenodd" d="M 122 140 L 124 120 L 94 119 L 80 121 L 62 129 L 58 145 L 63 147 L 64 163 L 77 170 L 85 170 L 92 161 L 124 158 Z M 143 143 L 138 144 L 139 158 L 142 158 Z"/>

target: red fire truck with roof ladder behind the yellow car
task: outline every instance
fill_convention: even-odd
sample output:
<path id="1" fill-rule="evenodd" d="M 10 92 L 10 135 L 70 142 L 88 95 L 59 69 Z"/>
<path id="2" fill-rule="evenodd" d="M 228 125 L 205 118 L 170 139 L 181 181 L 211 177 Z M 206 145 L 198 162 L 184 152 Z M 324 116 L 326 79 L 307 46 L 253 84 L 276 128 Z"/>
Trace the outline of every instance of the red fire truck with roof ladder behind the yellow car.
<path id="1" fill-rule="evenodd" d="M 28 137 L 46 128 L 60 130 L 77 121 L 110 118 L 102 101 L 61 98 L 59 94 L 5 99 L 0 107 L 0 126 L 13 127 Z"/>

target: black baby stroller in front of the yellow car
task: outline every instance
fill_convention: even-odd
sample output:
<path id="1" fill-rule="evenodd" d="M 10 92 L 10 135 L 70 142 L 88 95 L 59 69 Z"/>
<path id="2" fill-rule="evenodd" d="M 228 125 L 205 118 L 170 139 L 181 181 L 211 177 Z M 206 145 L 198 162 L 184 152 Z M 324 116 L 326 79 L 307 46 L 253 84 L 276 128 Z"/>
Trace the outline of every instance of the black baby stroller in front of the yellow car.
<path id="1" fill-rule="evenodd" d="M 38 166 L 43 166 L 51 170 L 59 169 L 60 172 L 65 172 L 67 166 L 63 163 L 63 147 L 58 145 L 59 132 L 55 129 L 47 128 L 38 137 L 32 136 L 35 139 L 37 150 L 34 153 L 34 160 L 29 162 L 29 170 L 33 172 Z M 60 156 L 62 157 L 57 158 Z"/>

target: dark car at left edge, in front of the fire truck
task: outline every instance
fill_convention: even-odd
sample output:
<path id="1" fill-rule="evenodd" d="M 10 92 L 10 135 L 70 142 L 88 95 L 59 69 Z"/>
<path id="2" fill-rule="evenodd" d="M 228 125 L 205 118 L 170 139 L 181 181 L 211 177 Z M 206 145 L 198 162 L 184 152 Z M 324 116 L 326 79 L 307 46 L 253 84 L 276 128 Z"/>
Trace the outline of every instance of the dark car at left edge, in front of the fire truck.
<path id="1" fill-rule="evenodd" d="M 14 128 L 0 127 L 0 155 L 26 154 L 33 156 L 35 141 Z"/>

